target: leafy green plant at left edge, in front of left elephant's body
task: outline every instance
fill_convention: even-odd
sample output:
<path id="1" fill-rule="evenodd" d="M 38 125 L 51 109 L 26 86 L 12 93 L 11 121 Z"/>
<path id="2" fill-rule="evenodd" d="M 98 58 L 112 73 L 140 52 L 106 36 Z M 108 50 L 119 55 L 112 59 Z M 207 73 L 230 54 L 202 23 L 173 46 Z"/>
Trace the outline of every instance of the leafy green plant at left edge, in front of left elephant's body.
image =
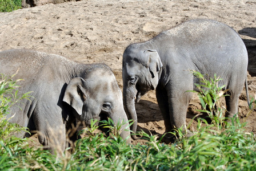
<path id="1" fill-rule="evenodd" d="M 11 76 L 12 78 L 13 76 Z M 5 161 L 13 156 L 19 154 L 22 150 L 22 146 L 27 144 L 26 139 L 20 139 L 15 137 L 15 134 L 26 132 L 26 128 L 19 127 L 18 124 L 9 123 L 10 118 L 7 118 L 7 114 L 10 114 L 10 107 L 17 104 L 21 99 L 29 97 L 29 93 L 23 94 L 18 97 L 18 91 L 15 88 L 18 87 L 17 82 L 21 80 L 13 81 L 11 78 L 7 78 L 1 74 L 0 77 L 0 170 L 5 168 L 10 162 Z"/>

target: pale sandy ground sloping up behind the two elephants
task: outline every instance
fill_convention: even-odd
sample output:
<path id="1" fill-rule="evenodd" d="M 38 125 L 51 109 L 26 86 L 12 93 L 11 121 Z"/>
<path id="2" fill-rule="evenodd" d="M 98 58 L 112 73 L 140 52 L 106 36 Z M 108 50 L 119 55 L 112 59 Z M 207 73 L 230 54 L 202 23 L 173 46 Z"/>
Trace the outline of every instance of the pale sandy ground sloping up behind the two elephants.
<path id="1" fill-rule="evenodd" d="M 249 52 L 249 93 L 256 92 L 256 1 L 79 1 L 44 5 L 0 13 L 0 51 L 28 48 L 65 56 L 81 63 L 106 63 L 122 88 L 122 54 L 135 42 L 195 18 L 226 23 L 241 35 Z M 187 116 L 201 105 L 195 98 Z M 155 92 L 135 105 L 138 130 L 161 135 L 165 131 Z M 239 117 L 247 131 L 256 132 L 256 113 L 248 115 L 245 91 L 239 100 Z M 191 119 L 187 119 L 190 121 Z M 197 123 L 194 121 L 191 129 Z M 133 143 L 142 140 L 133 141 Z"/>

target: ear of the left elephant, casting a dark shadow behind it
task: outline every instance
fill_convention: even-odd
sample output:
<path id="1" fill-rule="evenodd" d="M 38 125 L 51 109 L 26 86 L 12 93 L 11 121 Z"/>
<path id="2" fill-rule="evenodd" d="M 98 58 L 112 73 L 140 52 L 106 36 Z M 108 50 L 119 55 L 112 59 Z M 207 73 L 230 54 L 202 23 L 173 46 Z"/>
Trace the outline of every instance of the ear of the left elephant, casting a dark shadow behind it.
<path id="1" fill-rule="evenodd" d="M 67 84 L 63 101 L 71 105 L 79 115 L 82 115 L 83 101 L 86 100 L 85 80 L 82 78 L 73 78 Z"/>

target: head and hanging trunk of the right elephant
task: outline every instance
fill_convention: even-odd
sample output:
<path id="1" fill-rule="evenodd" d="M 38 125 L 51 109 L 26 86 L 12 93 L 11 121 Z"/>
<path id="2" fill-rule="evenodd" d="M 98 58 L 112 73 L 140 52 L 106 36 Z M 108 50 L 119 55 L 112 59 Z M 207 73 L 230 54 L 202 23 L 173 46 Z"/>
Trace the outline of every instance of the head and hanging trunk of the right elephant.
<path id="1" fill-rule="evenodd" d="M 128 118 L 134 121 L 131 128 L 134 133 L 137 129 L 135 97 L 138 103 L 147 91 L 157 87 L 162 66 L 156 50 L 127 47 L 123 54 L 123 102 Z"/>

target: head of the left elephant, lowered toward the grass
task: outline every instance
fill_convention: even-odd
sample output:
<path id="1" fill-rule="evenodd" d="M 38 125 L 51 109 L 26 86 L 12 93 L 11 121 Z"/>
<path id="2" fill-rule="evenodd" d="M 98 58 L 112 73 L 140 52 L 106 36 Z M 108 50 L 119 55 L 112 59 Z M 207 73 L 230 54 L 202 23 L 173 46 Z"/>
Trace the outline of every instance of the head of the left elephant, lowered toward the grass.
<path id="1" fill-rule="evenodd" d="M 126 122 L 121 137 L 130 143 L 129 124 L 123 109 L 122 92 L 110 68 L 93 67 L 81 78 L 73 78 L 67 85 L 63 101 L 73 107 L 74 115 L 90 125 L 91 119 L 106 120 L 110 117 L 115 124 Z"/>

